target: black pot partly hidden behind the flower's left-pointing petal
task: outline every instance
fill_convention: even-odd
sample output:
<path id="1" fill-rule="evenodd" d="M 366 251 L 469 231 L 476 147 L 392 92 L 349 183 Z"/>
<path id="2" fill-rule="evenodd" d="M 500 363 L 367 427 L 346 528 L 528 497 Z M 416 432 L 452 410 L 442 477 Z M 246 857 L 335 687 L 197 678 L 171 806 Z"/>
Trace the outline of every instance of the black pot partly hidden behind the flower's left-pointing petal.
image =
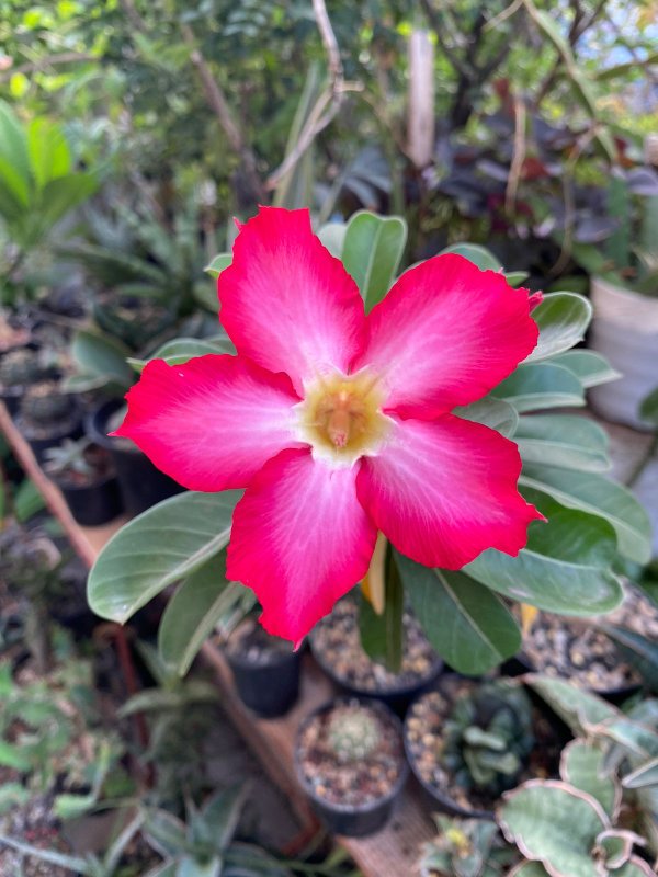
<path id="1" fill-rule="evenodd" d="M 87 418 L 87 434 L 110 452 L 123 504 L 127 512 L 137 515 L 169 497 L 182 493 L 184 488 L 157 469 L 132 442 L 107 435 L 107 421 L 122 406 L 120 399 L 112 399 L 93 409 Z"/>

